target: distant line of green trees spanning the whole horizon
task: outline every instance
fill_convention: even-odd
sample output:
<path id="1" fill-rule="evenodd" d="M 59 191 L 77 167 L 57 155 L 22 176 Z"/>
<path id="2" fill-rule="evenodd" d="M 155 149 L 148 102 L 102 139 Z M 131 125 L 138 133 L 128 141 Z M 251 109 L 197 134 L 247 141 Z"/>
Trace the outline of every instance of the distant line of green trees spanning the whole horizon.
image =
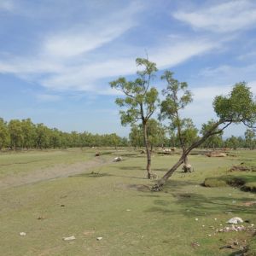
<path id="1" fill-rule="evenodd" d="M 167 130 L 168 131 L 168 130 Z M 202 132 L 202 131 L 201 131 Z M 148 143 L 155 147 L 180 147 L 177 134 L 166 136 L 166 127 L 155 119 L 148 123 Z M 183 134 L 184 142 L 199 137 L 198 131 L 189 128 Z M 92 134 L 90 132 L 64 132 L 49 128 L 44 124 L 33 124 L 31 119 L 12 119 L 9 122 L 0 118 L 0 150 L 3 148 L 77 148 L 77 147 L 143 147 L 143 131 L 141 125 L 132 125 L 129 140 L 117 134 Z M 213 136 L 202 144 L 202 148 L 256 148 L 256 137 L 253 130 L 247 129 L 244 137 L 231 136 L 224 139 L 222 135 Z"/>

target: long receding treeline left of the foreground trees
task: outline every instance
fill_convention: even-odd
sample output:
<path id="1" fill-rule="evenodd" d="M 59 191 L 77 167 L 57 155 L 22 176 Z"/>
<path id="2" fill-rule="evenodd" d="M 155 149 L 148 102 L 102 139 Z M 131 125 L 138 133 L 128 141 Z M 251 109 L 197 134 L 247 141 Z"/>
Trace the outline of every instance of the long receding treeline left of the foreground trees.
<path id="1" fill-rule="evenodd" d="M 12 119 L 8 122 L 0 118 L 0 150 L 2 148 L 73 148 L 127 146 L 125 137 L 112 134 L 91 134 L 84 131 L 63 132 L 50 129 L 44 124 L 33 124 L 31 119 Z"/>

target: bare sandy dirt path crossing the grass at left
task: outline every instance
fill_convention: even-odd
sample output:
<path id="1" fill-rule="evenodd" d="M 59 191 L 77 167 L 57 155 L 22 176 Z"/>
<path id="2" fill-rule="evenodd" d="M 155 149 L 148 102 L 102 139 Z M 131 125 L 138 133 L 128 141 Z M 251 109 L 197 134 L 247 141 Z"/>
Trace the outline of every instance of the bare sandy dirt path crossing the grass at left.
<path id="1" fill-rule="evenodd" d="M 0 189 L 8 189 L 59 177 L 68 177 L 89 171 L 91 168 L 108 165 L 110 162 L 112 162 L 112 160 L 104 160 L 101 157 L 97 157 L 94 160 L 88 160 L 86 162 L 78 162 L 71 165 L 61 164 L 50 168 L 35 170 L 23 175 L 16 174 L 15 176 L 4 177 L 1 179 Z"/>

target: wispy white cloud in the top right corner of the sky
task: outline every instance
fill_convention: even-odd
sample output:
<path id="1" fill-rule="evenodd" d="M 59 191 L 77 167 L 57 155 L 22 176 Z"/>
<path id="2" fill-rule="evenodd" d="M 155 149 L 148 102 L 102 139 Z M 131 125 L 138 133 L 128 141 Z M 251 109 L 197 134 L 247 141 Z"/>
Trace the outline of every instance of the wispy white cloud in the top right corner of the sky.
<path id="1" fill-rule="evenodd" d="M 177 11 L 172 15 L 195 29 L 212 32 L 236 32 L 256 26 L 256 4 L 250 0 L 233 0 L 193 12 Z"/>

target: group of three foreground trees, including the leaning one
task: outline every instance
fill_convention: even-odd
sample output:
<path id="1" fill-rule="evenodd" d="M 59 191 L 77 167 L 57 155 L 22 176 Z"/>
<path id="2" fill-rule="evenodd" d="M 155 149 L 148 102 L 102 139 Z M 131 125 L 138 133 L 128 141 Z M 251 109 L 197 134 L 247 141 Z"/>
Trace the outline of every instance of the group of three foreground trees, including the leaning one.
<path id="1" fill-rule="evenodd" d="M 153 190 L 160 190 L 166 180 L 172 176 L 177 167 L 184 164 L 186 170 L 188 155 L 193 148 L 200 147 L 207 143 L 210 138 L 220 136 L 224 129 L 231 124 L 242 123 L 253 128 L 256 123 L 256 102 L 253 93 L 245 82 L 235 84 L 228 96 L 216 96 L 212 105 L 216 113 L 216 120 L 209 120 L 201 127 L 201 137 L 196 136 L 196 129 L 191 119 L 183 119 L 181 112 L 192 102 L 192 93 L 188 90 L 188 84 L 179 82 L 173 78 L 171 71 L 166 71 L 160 78 L 166 82 L 166 89 L 162 90 L 164 97 L 160 102 L 159 92 L 152 81 L 157 74 L 157 67 L 154 62 L 148 59 L 137 58 L 137 77 L 134 80 L 127 80 L 120 77 L 112 82 L 112 88 L 123 93 L 123 97 L 116 99 L 119 106 L 122 125 L 135 124 L 143 130 L 143 144 L 147 152 L 147 172 L 151 177 L 151 150 L 148 127 L 153 114 L 159 110 L 159 119 L 167 120 L 170 132 L 176 134 L 183 153 L 177 163 L 166 172 L 156 183 Z M 189 140 L 188 140 L 189 139 Z"/>

